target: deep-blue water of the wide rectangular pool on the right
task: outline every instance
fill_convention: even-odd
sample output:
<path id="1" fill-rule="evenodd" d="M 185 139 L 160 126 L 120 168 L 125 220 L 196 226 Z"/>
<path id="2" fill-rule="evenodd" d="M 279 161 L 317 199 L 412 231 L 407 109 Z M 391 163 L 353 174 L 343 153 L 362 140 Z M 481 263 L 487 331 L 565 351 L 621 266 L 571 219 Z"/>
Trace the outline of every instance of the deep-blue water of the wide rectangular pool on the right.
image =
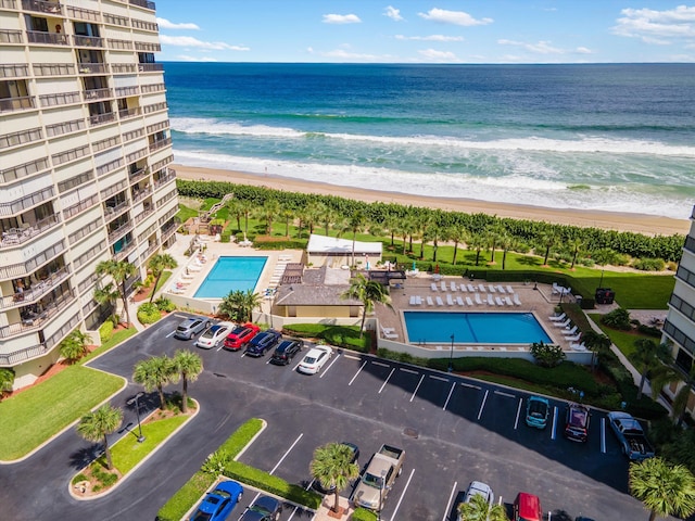
<path id="1" fill-rule="evenodd" d="M 552 340 L 531 313 L 403 312 L 413 344 L 532 344 Z"/>

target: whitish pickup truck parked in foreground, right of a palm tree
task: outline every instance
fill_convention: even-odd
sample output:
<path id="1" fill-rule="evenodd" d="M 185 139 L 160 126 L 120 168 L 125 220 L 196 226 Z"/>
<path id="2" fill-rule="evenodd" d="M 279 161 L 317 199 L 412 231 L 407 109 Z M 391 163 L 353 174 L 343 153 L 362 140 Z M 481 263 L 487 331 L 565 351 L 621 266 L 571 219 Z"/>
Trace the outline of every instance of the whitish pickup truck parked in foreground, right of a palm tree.
<path id="1" fill-rule="evenodd" d="M 352 493 L 350 500 L 356 507 L 380 511 L 383 501 L 403 470 L 405 450 L 382 445 L 369 460 L 367 469 Z"/>

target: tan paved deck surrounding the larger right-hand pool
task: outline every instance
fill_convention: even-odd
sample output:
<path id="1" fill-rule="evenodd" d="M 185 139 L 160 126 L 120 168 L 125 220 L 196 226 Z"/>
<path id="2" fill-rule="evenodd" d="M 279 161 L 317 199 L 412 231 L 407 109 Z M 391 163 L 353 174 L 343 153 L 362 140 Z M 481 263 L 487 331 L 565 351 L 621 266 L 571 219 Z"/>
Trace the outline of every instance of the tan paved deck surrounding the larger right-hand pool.
<path id="1" fill-rule="evenodd" d="M 442 290 L 442 282 L 445 283 L 446 291 Z M 457 285 L 456 291 L 452 291 L 451 283 L 454 282 Z M 478 289 L 477 292 L 460 291 L 460 284 L 465 283 L 466 285 L 471 284 Z M 435 284 L 437 291 L 432 290 L 432 284 Z M 479 285 L 484 284 L 485 292 L 480 291 Z M 379 336 L 393 340 L 394 342 L 404 342 L 407 340 L 407 334 L 405 331 L 405 322 L 403 320 L 403 312 L 413 310 L 413 312 L 456 312 L 456 313 L 532 313 L 533 316 L 541 323 L 545 332 L 551 338 L 554 344 L 559 345 L 565 351 L 572 351 L 570 348 L 570 342 L 565 339 L 561 334 L 563 329 L 555 327 L 554 322 L 548 319 L 549 316 L 554 314 L 555 307 L 559 303 L 559 295 L 553 294 L 553 288 L 549 284 L 523 284 L 523 283 L 503 283 L 503 288 L 505 289 L 505 293 L 501 293 L 497 290 L 498 284 L 494 284 L 495 292 L 490 292 L 490 284 L 483 280 L 475 280 L 470 281 L 467 278 L 462 277 L 437 277 L 432 278 L 432 276 L 427 274 L 419 274 L 416 277 L 410 277 L 403 281 L 400 288 L 391 288 L 391 308 L 384 305 L 376 306 L 376 318 L 379 321 L 380 328 L 391 329 L 393 332 L 388 336 L 379 331 Z M 506 287 L 510 285 L 514 290 L 514 294 L 517 294 L 519 300 L 521 301 L 521 305 L 513 304 L 511 306 L 506 303 L 502 306 L 488 304 L 488 295 L 493 296 L 493 301 L 495 297 L 504 297 L 510 296 L 514 297 L 514 294 L 509 294 L 506 292 Z M 483 304 L 477 304 L 475 300 L 475 295 L 478 293 L 480 295 Z M 447 296 L 451 295 L 452 304 L 447 303 Z M 421 298 L 421 304 L 412 305 L 410 297 L 419 296 Z M 432 305 L 429 305 L 427 302 L 427 297 L 432 300 Z M 441 298 L 442 304 L 439 305 L 437 297 Z M 456 297 L 462 297 L 464 301 L 464 306 L 460 306 L 456 302 Z M 473 305 L 470 306 L 466 303 L 466 297 L 469 297 Z M 563 297 L 564 302 L 571 298 L 573 302 L 573 297 L 571 295 L 565 295 Z M 413 345 L 418 345 L 418 347 L 440 351 L 443 348 L 448 348 L 450 343 L 444 342 L 442 345 L 437 345 L 437 343 L 432 344 L 417 344 L 412 343 Z M 528 352 L 529 346 L 527 344 L 523 345 L 495 345 L 495 344 L 460 344 L 454 343 L 456 351 L 523 351 Z"/>

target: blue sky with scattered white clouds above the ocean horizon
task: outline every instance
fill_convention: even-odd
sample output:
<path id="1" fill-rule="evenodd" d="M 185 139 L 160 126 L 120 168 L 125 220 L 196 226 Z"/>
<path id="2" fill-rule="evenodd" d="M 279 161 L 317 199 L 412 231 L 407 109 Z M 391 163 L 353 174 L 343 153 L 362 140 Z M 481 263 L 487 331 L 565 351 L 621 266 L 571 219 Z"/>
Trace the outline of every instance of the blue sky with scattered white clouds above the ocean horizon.
<path id="1" fill-rule="evenodd" d="M 160 0 L 159 61 L 695 62 L 668 0 Z"/>

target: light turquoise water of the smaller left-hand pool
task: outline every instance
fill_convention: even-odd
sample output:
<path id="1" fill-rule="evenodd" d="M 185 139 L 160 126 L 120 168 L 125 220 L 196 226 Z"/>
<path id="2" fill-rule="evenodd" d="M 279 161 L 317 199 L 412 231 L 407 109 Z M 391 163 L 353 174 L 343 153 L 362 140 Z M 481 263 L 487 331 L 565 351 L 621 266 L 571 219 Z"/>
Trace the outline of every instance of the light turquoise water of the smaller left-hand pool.
<path id="1" fill-rule="evenodd" d="M 219 257 L 193 295 L 224 298 L 231 291 L 255 290 L 268 257 Z"/>

